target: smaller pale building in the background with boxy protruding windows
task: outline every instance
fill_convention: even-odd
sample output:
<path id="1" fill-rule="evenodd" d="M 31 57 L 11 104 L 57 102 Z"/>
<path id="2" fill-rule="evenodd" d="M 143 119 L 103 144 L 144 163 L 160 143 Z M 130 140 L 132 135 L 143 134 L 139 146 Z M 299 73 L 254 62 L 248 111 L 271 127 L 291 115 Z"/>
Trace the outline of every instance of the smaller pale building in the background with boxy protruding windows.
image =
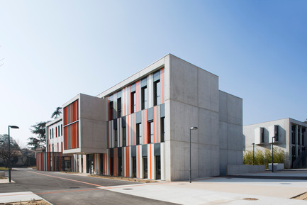
<path id="1" fill-rule="evenodd" d="M 292 118 L 243 126 L 244 150 L 252 150 L 252 143 L 255 143 L 255 150 L 272 150 L 273 143 L 286 153 L 285 168 L 306 167 L 306 128 L 307 123 Z"/>

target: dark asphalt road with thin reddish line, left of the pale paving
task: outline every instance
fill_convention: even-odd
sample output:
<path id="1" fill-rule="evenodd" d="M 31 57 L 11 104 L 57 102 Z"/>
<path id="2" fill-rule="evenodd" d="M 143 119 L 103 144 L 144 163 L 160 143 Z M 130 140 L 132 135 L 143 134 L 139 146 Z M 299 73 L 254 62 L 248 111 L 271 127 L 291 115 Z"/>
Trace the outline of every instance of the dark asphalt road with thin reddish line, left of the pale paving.
<path id="1" fill-rule="evenodd" d="M 12 180 L 16 183 L 0 184 L 0 193 L 30 191 L 55 205 L 172 204 L 108 190 L 114 186 L 140 184 L 138 182 L 19 168 L 12 171 Z"/>

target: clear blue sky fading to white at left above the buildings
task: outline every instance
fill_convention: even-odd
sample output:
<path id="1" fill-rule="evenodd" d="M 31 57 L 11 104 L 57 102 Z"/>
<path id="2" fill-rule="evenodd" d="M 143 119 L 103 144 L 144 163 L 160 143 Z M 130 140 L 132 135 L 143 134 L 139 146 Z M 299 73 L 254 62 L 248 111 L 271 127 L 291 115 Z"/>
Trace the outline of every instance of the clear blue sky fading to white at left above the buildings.
<path id="1" fill-rule="evenodd" d="M 0 133 L 22 145 L 79 93 L 168 53 L 219 76 L 244 124 L 305 121 L 307 1 L 0 0 Z"/>

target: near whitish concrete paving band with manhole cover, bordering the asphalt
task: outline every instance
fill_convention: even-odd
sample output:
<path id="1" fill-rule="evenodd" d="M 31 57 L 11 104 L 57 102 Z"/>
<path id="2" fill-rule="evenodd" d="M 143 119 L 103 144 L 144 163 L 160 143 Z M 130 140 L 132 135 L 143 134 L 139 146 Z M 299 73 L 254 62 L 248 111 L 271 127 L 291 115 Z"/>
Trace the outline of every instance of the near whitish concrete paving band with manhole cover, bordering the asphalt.
<path id="1" fill-rule="evenodd" d="M 174 184 L 174 183 L 170 183 Z M 193 184 L 193 183 L 192 183 Z M 228 192 L 213 192 L 205 189 L 191 189 L 184 187 L 172 187 L 166 184 L 148 184 L 135 186 L 130 189 L 113 187 L 108 189 L 113 192 L 131 194 L 149 199 L 156 199 L 177 204 L 200 205 L 200 204 L 307 204 L 306 201 L 296 199 L 284 199 L 267 196 L 248 194 L 234 194 Z M 246 200 L 246 199 L 256 199 Z"/>

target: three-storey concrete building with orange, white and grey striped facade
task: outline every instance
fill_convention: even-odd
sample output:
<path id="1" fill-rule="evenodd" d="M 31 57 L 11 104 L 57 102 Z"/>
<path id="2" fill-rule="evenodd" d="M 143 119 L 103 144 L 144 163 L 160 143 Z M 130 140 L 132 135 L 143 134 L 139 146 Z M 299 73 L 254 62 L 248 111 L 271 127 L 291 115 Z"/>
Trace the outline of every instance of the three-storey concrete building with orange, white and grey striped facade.
<path id="1" fill-rule="evenodd" d="M 174 55 L 96 97 L 79 94 L 63 109 L 62 153 L 74 155 L 77 172 L 189 179 L 194 126 L 193 178 L 242 166 L 242 99 L 220 91 L 215 74 Z"/>

